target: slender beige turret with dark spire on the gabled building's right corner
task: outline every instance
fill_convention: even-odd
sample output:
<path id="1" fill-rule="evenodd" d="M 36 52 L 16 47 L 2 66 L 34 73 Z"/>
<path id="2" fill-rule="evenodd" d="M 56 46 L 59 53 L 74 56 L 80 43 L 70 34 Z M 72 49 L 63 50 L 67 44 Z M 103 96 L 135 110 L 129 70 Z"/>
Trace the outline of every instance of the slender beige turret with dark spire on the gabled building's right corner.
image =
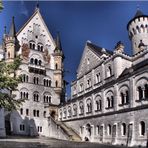
<path id="1" fill-rule="evenodd" d="M 59 94 L 61 102 L 63 102 L 64 94 L 64 80 L 63 80 L 63 60 L 64 54 L 62 52 L 62 46 L 60 41 L 59 33 L 56 38 L 56 48 L 54 50 L 54 81 L 55 81 L 55 92 Z"/>

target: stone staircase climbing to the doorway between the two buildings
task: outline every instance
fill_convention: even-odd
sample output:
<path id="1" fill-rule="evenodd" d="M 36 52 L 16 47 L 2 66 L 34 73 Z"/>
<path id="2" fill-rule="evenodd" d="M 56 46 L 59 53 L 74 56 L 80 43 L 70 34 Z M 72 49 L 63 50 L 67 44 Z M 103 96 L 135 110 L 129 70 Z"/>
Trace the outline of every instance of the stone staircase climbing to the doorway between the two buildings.
<path id="1" fill-rule="evenodd" d="M 55 121 L 58 126 L 68 135 L 71 141 L 82 141 L 81 137 L 69 126 L 60 121 Z"/>

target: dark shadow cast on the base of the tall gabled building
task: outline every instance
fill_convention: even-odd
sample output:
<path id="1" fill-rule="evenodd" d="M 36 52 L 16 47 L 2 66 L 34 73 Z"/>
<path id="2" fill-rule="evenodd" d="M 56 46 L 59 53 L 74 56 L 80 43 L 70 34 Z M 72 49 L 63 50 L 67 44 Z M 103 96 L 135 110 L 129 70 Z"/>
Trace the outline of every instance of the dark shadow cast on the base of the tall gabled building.
<path id="1" fill-rule="evenodd" d="M 22 118 L 18 111 L 5 112 L 6 135 L 39 136 L 34 119 Z"/>

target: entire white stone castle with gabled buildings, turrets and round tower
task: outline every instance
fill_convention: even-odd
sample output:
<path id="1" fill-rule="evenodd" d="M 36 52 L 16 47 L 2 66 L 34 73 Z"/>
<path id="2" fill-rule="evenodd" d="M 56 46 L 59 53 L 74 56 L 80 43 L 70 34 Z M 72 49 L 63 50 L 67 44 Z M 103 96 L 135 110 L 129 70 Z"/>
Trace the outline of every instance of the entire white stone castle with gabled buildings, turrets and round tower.
<path id="1" fill-rule="evenodd" d="M 1 50 L 7 62 L 16 55 L 23 59 L 17 71 L 23 76 L 22 83 L 14 94 L 26 101 L 20 110 L 5 113 L 6 133 L 145 146 L 148 16 L 137 10 L 127 30 L 132 56 L 124 52 L 120 41 L 114 51 L 86 42 L 77 79 L 71 83 L 71 100 L 64 102 L 64 54 L 59 35 L 52 38 L 39 8 L 17 33 L 12 19 Z"/>

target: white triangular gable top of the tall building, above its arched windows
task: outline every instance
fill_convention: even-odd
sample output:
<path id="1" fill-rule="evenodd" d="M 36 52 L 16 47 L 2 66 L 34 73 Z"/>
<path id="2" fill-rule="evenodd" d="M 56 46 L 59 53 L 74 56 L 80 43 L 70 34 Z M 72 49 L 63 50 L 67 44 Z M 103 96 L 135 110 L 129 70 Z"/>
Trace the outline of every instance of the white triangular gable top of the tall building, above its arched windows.
<path id="1" fill-rule="evenodd" d="M 55 49 L 55 42 L 48 31 L 39 9 L 34 12 L 30 19 L 19 30 L 17 38 L 21 45 L 24 43 L 29 44 L 29 42 L 35 42 L 43 44 L 44 49 L 48 49 L 50 53 L 53 53 Z"/>

